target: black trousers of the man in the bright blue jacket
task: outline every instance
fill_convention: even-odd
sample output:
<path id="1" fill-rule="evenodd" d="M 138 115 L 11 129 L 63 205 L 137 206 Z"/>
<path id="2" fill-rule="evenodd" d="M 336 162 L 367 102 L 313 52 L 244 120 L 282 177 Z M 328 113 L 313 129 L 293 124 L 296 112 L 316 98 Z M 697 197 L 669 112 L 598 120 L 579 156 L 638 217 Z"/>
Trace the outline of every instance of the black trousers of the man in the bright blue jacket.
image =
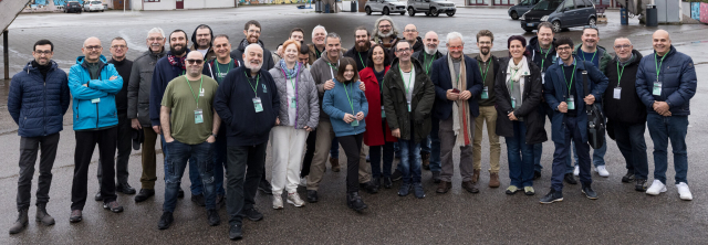
<path id="1" fill-rule="evenodd" d="M 101 195 L 104 203 L 116 200 L 115 195 L 115 145 L 118 137 L 118 127 L 75 131 L 76 150 L 74 151 L 74 180 L 71 187 L 71 210 L 83 210 L 86 204 L 88 184 L 88 164 L 93 150 L 98 143 L 98 164 L 103 168 L 104 177 L 101 180 Z"/>

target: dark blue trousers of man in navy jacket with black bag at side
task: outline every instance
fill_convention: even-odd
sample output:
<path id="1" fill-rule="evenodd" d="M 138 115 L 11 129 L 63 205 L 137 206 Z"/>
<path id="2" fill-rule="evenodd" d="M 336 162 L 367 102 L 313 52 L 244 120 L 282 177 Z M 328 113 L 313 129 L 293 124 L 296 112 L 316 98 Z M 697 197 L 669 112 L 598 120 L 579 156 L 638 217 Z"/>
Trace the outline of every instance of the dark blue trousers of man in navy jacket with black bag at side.
<path id="1" fill-rule="evenodd" d="M 570 159 L 571 141 L 575 142 L 575 149 L 580 152 L 580 182 L 583 184 L 593 182 L 590 175 L 590 145 L 583 141 L 580 129 L 577 128 L 577 118 L 565 116 L 562 128 L 565 134 L 565 141 L 562 143 L 555 142 L 555 152 L 553 152 L 551 188 L 555 191 L 563 191 L 563 177 L 568 173 L 566 162 Z"/>

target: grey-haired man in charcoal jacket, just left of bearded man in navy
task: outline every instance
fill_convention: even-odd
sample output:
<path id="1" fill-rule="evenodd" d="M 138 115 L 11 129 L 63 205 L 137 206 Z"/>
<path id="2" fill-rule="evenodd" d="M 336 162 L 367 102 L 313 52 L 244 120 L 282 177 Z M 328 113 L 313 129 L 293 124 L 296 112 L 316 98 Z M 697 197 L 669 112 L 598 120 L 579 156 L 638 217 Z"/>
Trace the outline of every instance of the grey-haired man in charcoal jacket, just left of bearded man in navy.
<path id="1" fill-rule="evenodd" d="M 144 135 L 140 191 L 135 195 L 135 202 L 143 202 L 155 195 L 155 181 L 157 181 L 155 141 L 157 134 L 150 125 L 149 100 L 155 64 L 166 54 L 163 29 L 149 30 L 146 43 L 148 50 L 133 62 L 133 71 L 128 82 L 128 118 L 131 118 L 133 129 L 142 130 Z"/>

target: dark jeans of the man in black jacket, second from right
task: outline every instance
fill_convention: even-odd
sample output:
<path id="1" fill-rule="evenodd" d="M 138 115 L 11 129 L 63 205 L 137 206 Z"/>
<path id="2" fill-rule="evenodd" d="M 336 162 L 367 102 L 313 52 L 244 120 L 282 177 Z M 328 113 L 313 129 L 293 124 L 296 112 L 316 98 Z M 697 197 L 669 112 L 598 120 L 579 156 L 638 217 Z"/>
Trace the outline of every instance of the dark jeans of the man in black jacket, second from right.
<path id="1" fill-rule="evenodd" d="M 626 168 L 636 179 L 646 180 L 649 174 L 649 163 L 646 157 L 646 141 L 644 131 L 646 122 L 624 124 L 615 122 L 615 141 L 624 157 Z"/>

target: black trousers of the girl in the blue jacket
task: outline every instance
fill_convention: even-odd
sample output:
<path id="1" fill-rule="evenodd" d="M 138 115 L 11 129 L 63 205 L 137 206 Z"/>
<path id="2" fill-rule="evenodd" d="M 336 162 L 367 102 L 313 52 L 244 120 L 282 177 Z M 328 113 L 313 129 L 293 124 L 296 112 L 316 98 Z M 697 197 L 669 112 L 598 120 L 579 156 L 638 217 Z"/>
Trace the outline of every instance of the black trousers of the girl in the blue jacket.
<path id="1" fill-rule="evenodd" d="M 336 137 L 346 155 L 346 192 L 358 191 L 358 161 L 364 134 Z"/>

